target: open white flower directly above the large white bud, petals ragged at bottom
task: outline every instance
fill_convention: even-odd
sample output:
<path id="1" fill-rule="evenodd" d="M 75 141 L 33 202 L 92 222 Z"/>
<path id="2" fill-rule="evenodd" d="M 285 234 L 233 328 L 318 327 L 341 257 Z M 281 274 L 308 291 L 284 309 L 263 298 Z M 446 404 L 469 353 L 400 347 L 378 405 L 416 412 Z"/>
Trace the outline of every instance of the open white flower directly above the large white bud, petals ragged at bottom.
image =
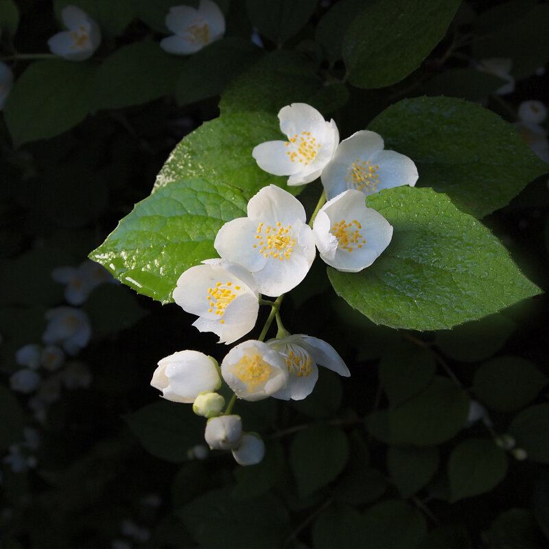
<path id="1" fill-rule="evenodd" d="M 177 281 L 174 301 L 200 318 L 200 331 L 213 331 L 221 343 L 232 343 L 253 329 L 259 312 L 259 290 L 241 265 L 224 259 L 207 259 L 187 269 Z"/>

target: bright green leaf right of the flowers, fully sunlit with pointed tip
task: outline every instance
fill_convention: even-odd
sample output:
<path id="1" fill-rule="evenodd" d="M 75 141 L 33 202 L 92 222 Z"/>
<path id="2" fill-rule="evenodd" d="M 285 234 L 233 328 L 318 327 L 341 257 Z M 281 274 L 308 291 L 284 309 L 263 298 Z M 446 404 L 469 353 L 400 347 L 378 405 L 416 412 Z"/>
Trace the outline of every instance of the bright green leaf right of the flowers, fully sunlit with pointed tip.
<path id="1" fill-rule="evenodd" d="M 395 187 L 366 204 L 393 225 L 393 240 L 369 268 L 328 268 L 328 275 L 336 293 L 376 324 L 450 328 L 539 293 L 500 241 L 446 196 Z"/>

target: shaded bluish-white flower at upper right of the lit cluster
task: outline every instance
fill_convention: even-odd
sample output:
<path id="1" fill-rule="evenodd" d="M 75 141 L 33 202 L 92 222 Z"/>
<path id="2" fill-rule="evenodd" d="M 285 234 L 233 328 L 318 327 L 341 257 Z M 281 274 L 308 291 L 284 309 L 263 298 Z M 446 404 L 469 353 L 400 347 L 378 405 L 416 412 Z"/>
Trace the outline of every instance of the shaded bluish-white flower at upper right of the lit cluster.
<path id="1" fill-rule="evenodd" d="M 344 139 L 322 172 L 328 200 L 347 189 L 369 195 L 400 185 L 416 184 L 416 165 L 404 154 L 384 150 L 382 137 L 360 130 Z"/>

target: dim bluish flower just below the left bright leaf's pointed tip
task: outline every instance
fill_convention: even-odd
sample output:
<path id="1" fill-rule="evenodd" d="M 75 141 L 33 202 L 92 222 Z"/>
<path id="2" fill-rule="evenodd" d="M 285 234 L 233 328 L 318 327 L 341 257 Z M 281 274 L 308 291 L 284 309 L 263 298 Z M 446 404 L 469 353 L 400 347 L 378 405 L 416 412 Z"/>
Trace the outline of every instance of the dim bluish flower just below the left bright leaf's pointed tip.
<path id="1" fill-rule="evenodd" d="M 86 259 L 78 267 L 57 267 L 51 271 L 51 278 L 66 284 L 65 299 L 71 305 L 82 305 L 91 290 L 102 282 L 113 280 L 102 265 Z"/>

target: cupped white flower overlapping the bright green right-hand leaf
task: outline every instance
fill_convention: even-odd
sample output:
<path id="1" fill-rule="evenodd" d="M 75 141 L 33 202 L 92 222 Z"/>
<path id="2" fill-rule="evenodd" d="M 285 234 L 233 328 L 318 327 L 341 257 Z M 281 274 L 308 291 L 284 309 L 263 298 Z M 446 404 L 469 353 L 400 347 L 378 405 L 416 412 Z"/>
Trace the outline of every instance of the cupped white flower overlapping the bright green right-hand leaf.
<path id="1" fill-rule="evenodd" d="M 318 211 L 313 223 L 321 259 L 343 272 L 369 267 L 393 237 L 393 226 L 366 207 L 364 194 L 349 189 Z"/>

